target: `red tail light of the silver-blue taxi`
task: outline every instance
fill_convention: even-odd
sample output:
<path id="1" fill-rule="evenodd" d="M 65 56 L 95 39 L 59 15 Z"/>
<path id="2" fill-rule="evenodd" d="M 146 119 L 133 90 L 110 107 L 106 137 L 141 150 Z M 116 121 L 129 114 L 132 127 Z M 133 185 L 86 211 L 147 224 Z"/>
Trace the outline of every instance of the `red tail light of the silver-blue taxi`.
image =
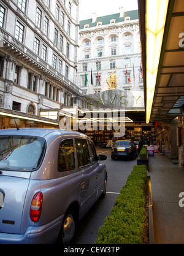
<path id="1" fill-rule="evenodd" d="M 37 222 L 39 220 L 39 217 L 42 211 L 42 202 L 43 202 L 43 194 L 42 192 L 37 192 L 34 195 L 34 198 L 31 203 L 31 208 L 30 208 L 30 218 L 33 222 Z"/>

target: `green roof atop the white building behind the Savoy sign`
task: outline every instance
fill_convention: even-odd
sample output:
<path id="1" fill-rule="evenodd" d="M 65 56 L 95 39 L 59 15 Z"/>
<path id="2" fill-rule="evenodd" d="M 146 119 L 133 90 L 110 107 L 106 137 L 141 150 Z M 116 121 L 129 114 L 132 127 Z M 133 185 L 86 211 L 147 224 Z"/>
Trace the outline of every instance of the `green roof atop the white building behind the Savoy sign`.
<path id="1" fill-rule="evenodd" d="M 138 10 L 129 10 L 124 13 L 124 17 L 120 18 L 120 14 L 110 14 L 102 17 L 97 17 L 95 22 L 92 22 L 92 18 L 88 20 L 80 21 L 80 29 L 83 29 L 86 24 L 89 24 L 89 28 L 93 28 L 97 25 L 98 22 L 102 22 L 102 25 L 110 24 L 110 20 L 116 20 L 115 23 L 125 21 L 126 17 L 130 17 L 130 20 L 138 20 Z"/>

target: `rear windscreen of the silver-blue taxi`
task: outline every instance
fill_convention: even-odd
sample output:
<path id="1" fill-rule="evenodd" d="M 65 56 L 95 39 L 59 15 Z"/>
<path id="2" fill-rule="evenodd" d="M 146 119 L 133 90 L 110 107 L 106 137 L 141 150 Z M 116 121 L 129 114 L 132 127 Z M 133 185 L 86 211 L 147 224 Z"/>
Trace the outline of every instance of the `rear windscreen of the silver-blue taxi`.
<path id="1" fill-rule="evenodd" d="M 33 136 L 0 136 L 0 169 L 36 170 L 45 152 L 45 139 Z"/>

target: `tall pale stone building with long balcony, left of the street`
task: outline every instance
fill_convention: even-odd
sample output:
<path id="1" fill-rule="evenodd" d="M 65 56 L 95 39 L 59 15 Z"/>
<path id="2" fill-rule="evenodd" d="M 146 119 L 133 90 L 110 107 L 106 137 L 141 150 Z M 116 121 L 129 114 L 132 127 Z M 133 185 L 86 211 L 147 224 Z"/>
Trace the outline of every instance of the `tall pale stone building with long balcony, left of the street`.
<path id="1" fill-rule="evenodd" d="M 49 126 L 40 112 L 70 106 L 82 95 L 76 84 L 78 17 L 78 0 L 1 1 L 0 128 L 14 126 L 10 109 L 20 126 Z"/>

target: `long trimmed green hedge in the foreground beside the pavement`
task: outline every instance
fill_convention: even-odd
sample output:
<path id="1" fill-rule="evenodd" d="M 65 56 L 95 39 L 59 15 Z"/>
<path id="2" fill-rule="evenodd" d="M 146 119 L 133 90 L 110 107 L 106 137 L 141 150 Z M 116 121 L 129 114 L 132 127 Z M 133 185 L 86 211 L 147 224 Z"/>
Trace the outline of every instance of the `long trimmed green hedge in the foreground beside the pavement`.
<path id="1" fill-rule="evenodd" d="M 117 196 L 110 215 L 99 228 L 96 244 L 147 243 L 145 198 L 147 195 L 147 168 L 134 166 L 127 182 Z"/>

